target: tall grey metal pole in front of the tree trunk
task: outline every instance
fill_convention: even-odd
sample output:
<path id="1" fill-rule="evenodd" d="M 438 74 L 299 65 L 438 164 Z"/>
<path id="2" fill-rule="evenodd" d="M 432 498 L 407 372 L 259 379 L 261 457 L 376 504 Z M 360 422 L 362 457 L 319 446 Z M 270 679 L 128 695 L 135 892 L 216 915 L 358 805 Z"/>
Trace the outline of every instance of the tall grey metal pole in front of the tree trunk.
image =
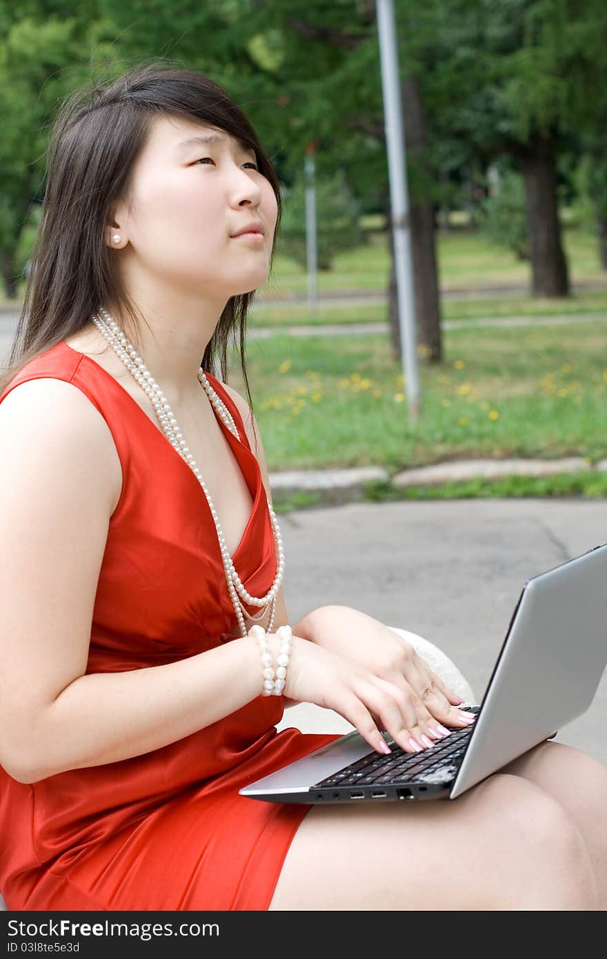
<path id="1" fill-rule="evenodd" d="M 415 297 L 411 266 L 411 237 L 409 226 L 409 193 L 407 186 L 407 150 L 401 105 L 401 87 L 398 75 L 398 47 L 396 20 L 392 0 L 377 0 L 377 24 L 382 64 L 384 93 L 385 143 L 390 182 L 392 235 L 394 238 L 394 268 L 396 272 L 396 299 L 401 330 L 405 395 L 412 421 L 419 418 L 421 401 L 417 372 L 417 343 L 415 334 Z"/>

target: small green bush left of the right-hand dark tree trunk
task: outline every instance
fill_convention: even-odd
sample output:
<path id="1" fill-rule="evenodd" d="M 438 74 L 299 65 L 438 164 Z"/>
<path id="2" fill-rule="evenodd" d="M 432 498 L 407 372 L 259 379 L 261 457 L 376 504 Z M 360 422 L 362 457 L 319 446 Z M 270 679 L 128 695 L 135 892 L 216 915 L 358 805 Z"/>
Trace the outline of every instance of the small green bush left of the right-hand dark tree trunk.
<path id="1" fill-rule="evenodd" d="M 502 176 L 497 192 L 480 203 L 479 228 L 492 243 L 507 246 L 518 260 L 529 259 L 525 186 L 523 178 L 510 171 Z"/>

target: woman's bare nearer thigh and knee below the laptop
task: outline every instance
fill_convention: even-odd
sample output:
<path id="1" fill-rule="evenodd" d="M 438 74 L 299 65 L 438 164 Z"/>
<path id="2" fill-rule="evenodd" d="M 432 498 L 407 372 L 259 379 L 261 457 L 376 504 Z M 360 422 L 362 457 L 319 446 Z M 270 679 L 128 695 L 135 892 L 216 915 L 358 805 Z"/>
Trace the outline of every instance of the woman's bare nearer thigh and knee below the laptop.
<path id="1" fill-rule="evenodd" d="M 456 800 L 313 806 L 268 908 L 525 908 L 550 883 L 567 883 L 581 845 L 558 803 L 502 773 Z"/>

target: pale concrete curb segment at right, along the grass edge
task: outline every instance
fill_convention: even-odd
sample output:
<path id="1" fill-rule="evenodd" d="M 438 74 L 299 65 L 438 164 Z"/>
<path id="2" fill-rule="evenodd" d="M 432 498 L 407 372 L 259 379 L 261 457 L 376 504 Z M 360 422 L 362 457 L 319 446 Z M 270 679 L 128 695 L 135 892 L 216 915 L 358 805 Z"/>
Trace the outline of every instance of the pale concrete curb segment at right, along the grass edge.
<path id="1" fill-rule="evenodd" d="M 605 462 L 607 464 L 607 460 Z M 405 470 L 392 477 L 392 484 L 399 487 L 421 486 L 461 479 L 546 477 L 557 473 L 585 473 L 589 470 L 591 466 L 582 456 L 565 459 L 467 459 Z"/>

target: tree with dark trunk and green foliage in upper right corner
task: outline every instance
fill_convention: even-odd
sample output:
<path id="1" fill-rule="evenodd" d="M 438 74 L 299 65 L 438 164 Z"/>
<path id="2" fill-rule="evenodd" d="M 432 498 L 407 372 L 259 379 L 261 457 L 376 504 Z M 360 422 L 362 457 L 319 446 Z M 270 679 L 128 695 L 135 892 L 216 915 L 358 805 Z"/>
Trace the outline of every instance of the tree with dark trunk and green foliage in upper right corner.
<path id="1" fill-rule="evenodd" d="M 489 162 L 513 157 L 525 180 L 532 292 L 569 292 L 556 157 L 597 129 L 607 86 L 601 0 L 453 0 L 441 35 L 441 122 Z"/>

